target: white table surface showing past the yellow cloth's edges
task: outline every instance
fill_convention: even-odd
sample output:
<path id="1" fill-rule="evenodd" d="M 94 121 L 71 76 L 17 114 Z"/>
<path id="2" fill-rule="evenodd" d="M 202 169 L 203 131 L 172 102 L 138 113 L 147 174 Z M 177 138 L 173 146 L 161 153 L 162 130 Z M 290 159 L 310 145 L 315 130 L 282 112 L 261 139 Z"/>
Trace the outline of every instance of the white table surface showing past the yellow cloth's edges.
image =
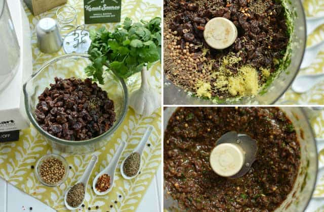
<path id="1" fill-rule="evenodd" d="M 143 1 L 161 6 L 160 0 Z M 137 211 L 161 212 L 161 184 L 161 167 L 159 167 L 151 185 L 142 198 Z M 45 205 L 34 197 L 25 194 L 13 185 L 7 183 L 4 179 L 0 178 L 0 212 L 26 212 L 29 211 L 29 207 L 32 207 L 33 212 L 55 211 L 51 207 Z"/>

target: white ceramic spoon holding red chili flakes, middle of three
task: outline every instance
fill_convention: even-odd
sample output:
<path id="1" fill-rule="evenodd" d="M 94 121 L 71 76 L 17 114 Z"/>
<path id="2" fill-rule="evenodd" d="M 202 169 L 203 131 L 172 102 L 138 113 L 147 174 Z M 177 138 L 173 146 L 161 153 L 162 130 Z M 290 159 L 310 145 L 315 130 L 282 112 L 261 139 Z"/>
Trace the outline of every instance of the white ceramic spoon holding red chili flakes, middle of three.
<path id="1" fill-rule="evenodd" d="M 107 194 L 113 187 L 113 182 L 114 182 L 114 177 L 115 177 L 115 172 L 116 172 L 116 167 L 117 167 L 117 164 L 118 164 L 118 161 L 119 161 L 119 158 L 121 156 L 121 153 L 123 153 L 124 149 L 126 147 L 126 142 L 125 141 L 121 141 L 117 150 L 116 150 L 116 153 L 115 155 L 112 157 L 112 160 L 111 162 L 109 162 L 109 165 L 104 169 L 102 170 L 96 177 L 95 179 L 93 180 L 93 183 L 92 183 L 92 187 L 93 187 L 93 190 L 94 192 L 97 194 L 97 195 L 105 195 Z M 100 192 L 96 189 L 96 184 L 97 184 L 97 181 L 98 181 L 98 178 L 103 175 L 103 174 L 107 174 L 109 175 L 110 177 L 110 187 L 104 191 L 104 192 Z"/>

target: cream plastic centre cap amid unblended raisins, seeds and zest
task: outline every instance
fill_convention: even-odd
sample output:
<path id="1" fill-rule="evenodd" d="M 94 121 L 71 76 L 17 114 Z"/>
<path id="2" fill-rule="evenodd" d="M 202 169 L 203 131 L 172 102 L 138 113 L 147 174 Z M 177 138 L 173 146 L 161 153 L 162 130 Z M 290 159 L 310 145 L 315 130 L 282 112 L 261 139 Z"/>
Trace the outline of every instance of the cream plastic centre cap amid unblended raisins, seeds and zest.
<path id="1" fill-rule="evenodd" d="M 204 38 L 212 48 L 227 48 L 234 43 L 236 37 L 236 26 L 226 18 L 213 18 L 205 26 Z"/>

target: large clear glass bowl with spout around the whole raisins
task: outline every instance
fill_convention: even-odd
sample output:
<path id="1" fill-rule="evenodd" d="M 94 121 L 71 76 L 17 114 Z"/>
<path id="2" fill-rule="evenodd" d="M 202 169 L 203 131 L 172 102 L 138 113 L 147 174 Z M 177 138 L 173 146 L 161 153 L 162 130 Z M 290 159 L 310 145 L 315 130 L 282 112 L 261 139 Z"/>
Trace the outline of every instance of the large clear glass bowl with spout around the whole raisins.
<path id="1" fill-rule="evenodd" d="M 108 97 L 113 100 L 115 106 L 116 121 L 108 131 L 89 140 L 69 141 L 49 134 L 38 125 L 34 113 L 38 103 L 37 97 L 46 87 L 50 87 L 50 83 L 55 82 L 54 77 L 63 79 L 70 77 L 87 78 L 85 68 L 90 63 L 89 56 L 86 54 L 68 54 L 54 58 L 34 73 L 23 86 L 28 118 L 53 149 L 72 154 L 93 152 L 109 141 L 126 116 L 128 109 L 128 90 L 126 84 L 123 79 L 109 71 L 105 72 L 105 84 L 98 84 L 103 90 L 107 91 Z"/>

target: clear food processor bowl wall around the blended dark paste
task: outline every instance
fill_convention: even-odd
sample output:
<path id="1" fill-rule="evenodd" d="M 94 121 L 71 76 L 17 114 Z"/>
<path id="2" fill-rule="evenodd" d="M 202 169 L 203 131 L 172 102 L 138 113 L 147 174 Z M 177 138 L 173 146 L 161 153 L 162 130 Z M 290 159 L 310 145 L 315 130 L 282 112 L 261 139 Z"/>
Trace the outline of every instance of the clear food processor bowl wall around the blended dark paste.
<path id="1" fill-rule="evenodd" d="M 317 149 L 313 130 L 308 122 L 305 112 L 301 108 L 280 108 L 292 121 L 297 137 L 300 141 L 301 158 L 299 173 L 292 192 L 287 199 L 275 210 L 276 212 L 302 212 L 306 209 L 316 183 L 317 176 Z M 164 111 L 164 129 L 176 108 L 167 108 Z M 164 189 L 164 208 L 169 211 L 180 211 L 175 201 Z"/>

